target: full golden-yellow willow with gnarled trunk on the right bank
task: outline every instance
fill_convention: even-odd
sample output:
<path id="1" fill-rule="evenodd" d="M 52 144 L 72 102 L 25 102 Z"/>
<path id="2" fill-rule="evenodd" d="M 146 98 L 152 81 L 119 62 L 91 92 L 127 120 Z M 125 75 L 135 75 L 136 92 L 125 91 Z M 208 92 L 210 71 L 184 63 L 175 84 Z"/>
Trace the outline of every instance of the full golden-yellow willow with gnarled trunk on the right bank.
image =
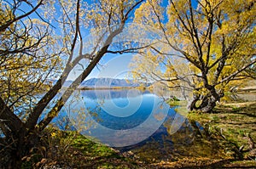
<path id="1" fill-rule="evenodd" d="M 253 0 L 148 0 L 135 21 L 157 28 L 160 38 L 134 58 L 134 76 L 186 84 L 189 110 L 211 111 L 231 88 L 255 79 L 255 14 Z"/>

